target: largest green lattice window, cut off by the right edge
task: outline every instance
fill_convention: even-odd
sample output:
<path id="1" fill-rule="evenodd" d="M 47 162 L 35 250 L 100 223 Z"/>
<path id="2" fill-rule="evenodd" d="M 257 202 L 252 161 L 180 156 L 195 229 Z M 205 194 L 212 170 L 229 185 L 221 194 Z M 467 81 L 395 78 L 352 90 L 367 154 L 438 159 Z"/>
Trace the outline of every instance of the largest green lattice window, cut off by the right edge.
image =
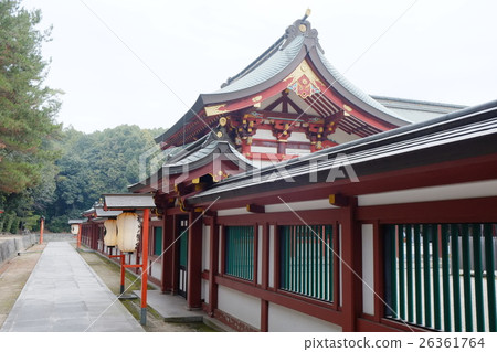
<path id="1" fill-rule="evenodd" d="M 385 316 L 443 331 L 496 331 L 496 224 L 384 226 Z"/>

